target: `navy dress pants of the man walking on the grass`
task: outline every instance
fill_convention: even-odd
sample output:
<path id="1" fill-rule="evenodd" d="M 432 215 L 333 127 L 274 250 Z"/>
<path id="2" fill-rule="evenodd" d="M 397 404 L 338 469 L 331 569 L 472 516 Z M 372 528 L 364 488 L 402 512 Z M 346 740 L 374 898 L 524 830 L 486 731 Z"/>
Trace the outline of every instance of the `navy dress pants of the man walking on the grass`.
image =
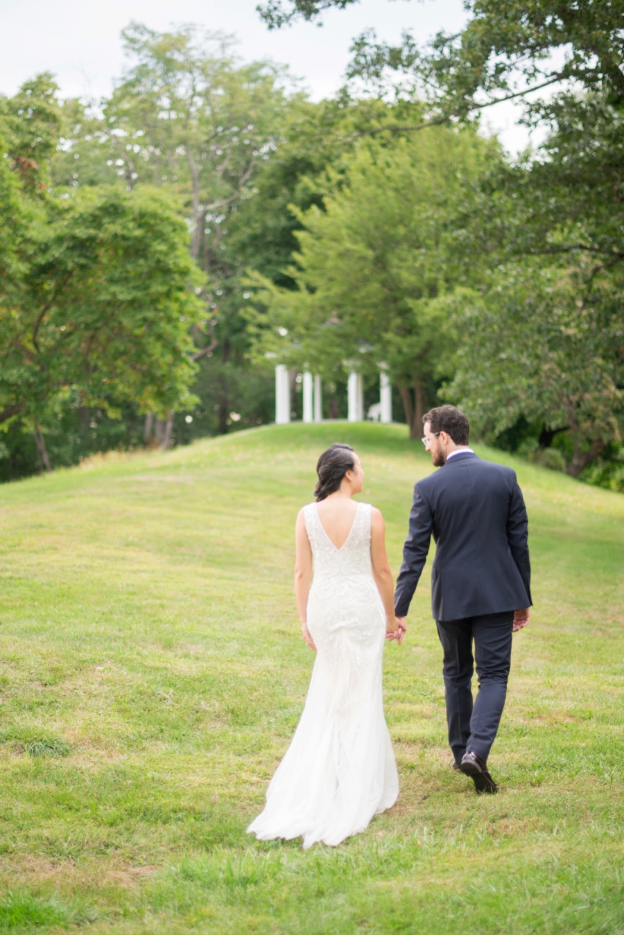
<path id="1" fill-rule="evenodd" d="M 487 762 L 507 695 L 514 611 L 436 623 L 444 652 L 446 721 L 451 750 L 457 763 L 461 763 L 467 751 Z M 472 703 L 475 663 L 479 691 Z"/>

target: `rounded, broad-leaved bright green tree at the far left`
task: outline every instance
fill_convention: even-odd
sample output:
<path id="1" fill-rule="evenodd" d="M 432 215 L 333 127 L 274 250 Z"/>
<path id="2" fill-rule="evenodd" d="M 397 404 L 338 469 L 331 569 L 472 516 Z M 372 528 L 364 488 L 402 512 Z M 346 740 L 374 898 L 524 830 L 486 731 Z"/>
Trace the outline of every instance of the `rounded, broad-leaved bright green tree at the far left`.
<path id="1" fill-rule="evenodd" d="M 181 407 L 195 369 L 188 328 L 203 317 L 185 225 L 162 195 L 94 190 L 46 207 L 0 316 L 0 421 L 19 416 L 44 461 L 46 424 L 70 392 L 109 411 L 111 399 Z"/>

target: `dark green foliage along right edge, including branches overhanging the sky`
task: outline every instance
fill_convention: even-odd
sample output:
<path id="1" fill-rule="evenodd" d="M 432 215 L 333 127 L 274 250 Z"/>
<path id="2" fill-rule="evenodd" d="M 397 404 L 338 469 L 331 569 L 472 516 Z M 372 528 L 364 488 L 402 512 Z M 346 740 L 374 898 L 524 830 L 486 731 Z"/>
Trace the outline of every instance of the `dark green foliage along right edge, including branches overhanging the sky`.
<path id="1" fill-rule="evenodd" d="M 337 4 L 299 12 L 325 6 Z M 424 50 L 409 33 L 400 46 L 360 36 L 348 74 L 379 92 L 425 95 L 425 124 L 466 121 L 551 86 L 554 94 L 525 103 L 526 122 L 551 131 L 544 146 L 498 174 L 478 223 L 457 243 L 465 251 L 472 242 L 506 275 L 478 285 L 473 305 L 488 313 L 470 312 L 468 300 L 460 317 L 455 389 L 486 431 L 510 430 L 520 417 L 549 430 L 569 426 L 569 470 L 578 474 L 622 425 L 622 7 L 478 0 L 467 8 L 461 31 L 439 34 Z"/>

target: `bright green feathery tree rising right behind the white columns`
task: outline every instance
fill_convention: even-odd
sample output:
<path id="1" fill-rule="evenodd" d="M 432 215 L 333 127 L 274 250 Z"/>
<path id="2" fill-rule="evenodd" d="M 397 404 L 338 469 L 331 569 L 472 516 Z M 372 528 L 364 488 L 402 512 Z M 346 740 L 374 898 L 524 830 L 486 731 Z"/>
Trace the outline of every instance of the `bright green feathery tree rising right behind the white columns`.
<path id="1" fill-rule="evenodd" d="M 325 210 L 300 215 L 290 270 L 298 290 L 259 283 L 269 313 L 252 316 L 258 352 L 334 379 L 385 364 L 420 437 L 428 398 L 453 368 L 443 296 L 476 273 L 454 256 L 455 224 L 499 159 L 495 144 L 468 130 L 360 146 L 344 176 L 330 176 Z"/>

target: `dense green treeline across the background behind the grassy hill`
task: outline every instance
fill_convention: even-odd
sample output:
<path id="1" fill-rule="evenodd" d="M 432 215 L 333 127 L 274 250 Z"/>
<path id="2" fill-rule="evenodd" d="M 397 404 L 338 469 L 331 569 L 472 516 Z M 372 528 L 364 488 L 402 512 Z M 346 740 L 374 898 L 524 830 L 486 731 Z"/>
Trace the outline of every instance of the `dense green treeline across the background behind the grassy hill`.
<path id="1" fill-rule="evenodd" d="M 98 108 L 47 75 L 0 99 L 0 477 L 267 422 L 281 360 L 297 414 L 297 371 L 336 416 L 348 370 L 372 402 L 383 363 L 414 438 L 447 399 L 490 442 L 624 487 L 608 6 L 481 2 L 428 50 L 361 36 L 359 94 L 319 104 L 218 37 L 132 24 Z M 512 164 L 478 114 L 544 84 L 527 120 L 548 137 Z"/>

